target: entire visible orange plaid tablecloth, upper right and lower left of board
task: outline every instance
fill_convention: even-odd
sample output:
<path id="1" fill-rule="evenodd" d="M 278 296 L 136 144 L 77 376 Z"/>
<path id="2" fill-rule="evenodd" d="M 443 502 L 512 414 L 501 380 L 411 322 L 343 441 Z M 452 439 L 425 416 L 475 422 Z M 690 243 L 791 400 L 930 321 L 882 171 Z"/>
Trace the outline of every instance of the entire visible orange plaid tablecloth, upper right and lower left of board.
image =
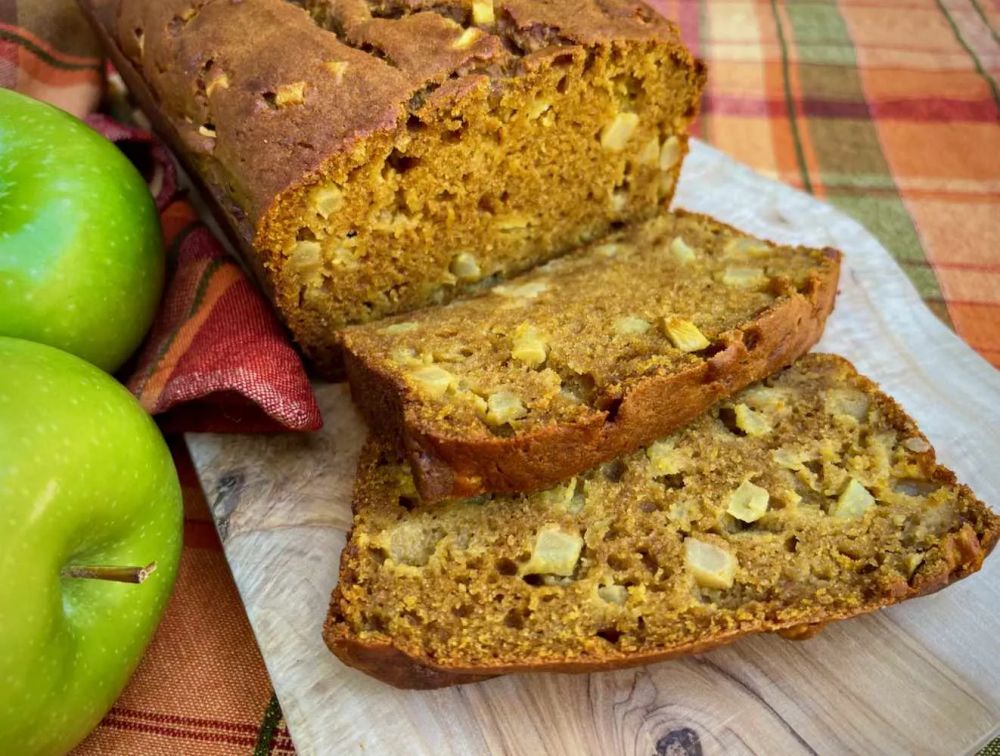
<path id="1" fill-rule="evenodd" d="M 653 4 L 710 64 L 699 135 L 864 223 L 938 316 L 1000 367 L 996 0 Z M 288 752 L 177 449 L 188 494 L 177 590 L 134 680 L 79 753 Z"/>

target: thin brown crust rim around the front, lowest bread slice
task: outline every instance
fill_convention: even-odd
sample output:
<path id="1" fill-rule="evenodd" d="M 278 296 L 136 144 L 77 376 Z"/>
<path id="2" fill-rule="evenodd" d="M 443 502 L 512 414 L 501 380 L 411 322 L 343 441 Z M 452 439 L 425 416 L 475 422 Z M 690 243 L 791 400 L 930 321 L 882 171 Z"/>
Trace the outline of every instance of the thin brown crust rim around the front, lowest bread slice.
<path id="1" fill-rule="evenodd" d="M 853 372 L 853 368 L 846 360 L 831 355 L 810 355 L 805 360 L 809 361 L 810 365 L 839 363 Z M 922 448 L 921 451 L 915 452 L 919 467 L 926 471 L 930 480 L 949 487 L 949 500 L 955 502 L 956 512 L 960 518 L 957 524 L 952 526 L 954 529 L 951 532 L 944 533 L 940 537 L 928 552 L 926 561 L 919 563 L 909 580 L 905 576 L 900 576 L 895 582 L 871 582 L 867 584 L 868 587 L 857 602 L 841 603 L 834 608 L 828 607 L 822 601 L 807 602 L 799 610 L 789 612 L 787 616 L 758 615 L 751 622 L 741 624 L 735 629 L 723 629 L 713 632 L 708 637 L 696 637 L 690 642 L 633 652 L 624 656 L 616 654 L 602 658 L 598 653 L 589 659 L 580 657 L 553 659 L 551 656 L 532 658 L 532 654 L 528 653 L 523 661 L 496 663 L 491 662 L 487 654 L 485 659 L 473 665 L 442 664 L 416 650 L 418 646 L 401 645 L 394 642 L 391 636 L 378 632 L 371 633 L 370 639 L 363 638 L 350 629 L 351 626 L 344 617 L 351 607 L 341 593 L 341 588 L 355 584 L 359 576 L 356 570 L 360 564 L 358 557 L 361 556 L 361 550 L 352 535 L 342 557 L 340 582 L 331 599 L 330 613 L 323 630 L 324 639 L 330 649 L 345 663 L 389 684 L 404 688 L 441 687 L 519 672 L 605 671 L 705 651 L 760 632 L 776 632 L 786 638 L 804 640 L 815 635 L 830 622 L 933 593 L 976 572 L 1000 540 L 1000 517 L 977 501 L 966 486 L 956 483 L 954 473 L 937 464 L 934 450 L 926 443 L 926 438 L 894 400 L 882 394 L 877 385 L 867 378 L 855 374 L 852 381 L 855 387 L 866 392 L 879 406 L 887 427 L 892 428 L 899 439 L 905 439 L 906 443 L 912 444 L 916 449 Z M 380 464 L 381 454 L 384 454 L 381 447 L 369 444 L 362 455 L 355 494 L 355 507 L 358 513 L 372 506 L 375 499 L 380 496 L 377 487 L 369 487 L 367 472 Z"/>

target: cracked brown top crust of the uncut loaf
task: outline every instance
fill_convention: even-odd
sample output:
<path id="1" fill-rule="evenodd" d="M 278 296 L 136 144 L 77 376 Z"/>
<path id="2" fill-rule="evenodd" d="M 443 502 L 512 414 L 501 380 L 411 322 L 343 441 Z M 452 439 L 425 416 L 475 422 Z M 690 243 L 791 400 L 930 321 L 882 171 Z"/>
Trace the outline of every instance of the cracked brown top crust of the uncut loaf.
<path id="1" fill-rule="evenodd" d="M 574 46 L 667 45 L 674 24 L 628 0 L 111 0 L 117 42 L 199 170 L 252 236 L 274 199 L 359 153 L 414 108 Z M 442 83 L 444 85 L 442 86 Z"/>

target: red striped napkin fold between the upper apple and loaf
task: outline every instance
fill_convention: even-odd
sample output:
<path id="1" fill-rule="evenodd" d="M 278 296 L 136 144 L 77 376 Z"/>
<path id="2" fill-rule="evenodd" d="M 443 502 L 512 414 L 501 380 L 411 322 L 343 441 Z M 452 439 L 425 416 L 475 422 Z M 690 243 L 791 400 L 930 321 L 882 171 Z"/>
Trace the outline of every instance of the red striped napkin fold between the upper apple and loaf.
<path id="1" fill-rule="evenodd" d="M 168 284 L 127 385 L 169 430 L 316 430 L 322 424 L 298 354 L 268 303 L 177 189 L 166 149 L 101 115 L 87 122 L 150 166 Z"/>

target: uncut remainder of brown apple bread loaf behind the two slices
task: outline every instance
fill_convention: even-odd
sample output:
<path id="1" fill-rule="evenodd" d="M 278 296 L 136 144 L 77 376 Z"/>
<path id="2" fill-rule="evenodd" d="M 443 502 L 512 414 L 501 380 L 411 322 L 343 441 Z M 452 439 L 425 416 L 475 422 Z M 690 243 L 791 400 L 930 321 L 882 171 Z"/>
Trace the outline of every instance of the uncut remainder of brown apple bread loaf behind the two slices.
<path id="1" fill-rule="evenodd" d="M 635 0 L 85 0 L 303 349 L 649 217 L 704 81 Z"/>

